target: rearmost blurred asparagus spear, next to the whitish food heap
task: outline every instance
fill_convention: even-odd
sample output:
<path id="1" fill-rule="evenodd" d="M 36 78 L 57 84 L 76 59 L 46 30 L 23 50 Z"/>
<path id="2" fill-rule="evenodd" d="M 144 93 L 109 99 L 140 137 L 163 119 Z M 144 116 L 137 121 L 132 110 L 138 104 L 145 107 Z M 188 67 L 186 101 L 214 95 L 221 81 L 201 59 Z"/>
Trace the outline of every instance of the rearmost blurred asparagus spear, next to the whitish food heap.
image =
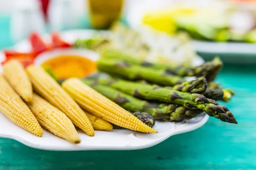
<path id="1" fill-rule="evenodd" d="M 124 54 L 121 51 L 116 50 L 106 50 L 102 52 L 102 58 L 104 59 L 116 59 L 128 62 L 134 65 L 142 65 L 149 68 L 156 68 L 156 69 L 164 69 L 167 73 L 178 75 L 180 77 L 184 76 L 206 76 L 207 81 L 212 81 L 215 79 L 216 75 L 218 74 L 219 70 L 222 67 L 222 62 L 219 58 L 215 58 L 210 62 L 205 62 L 199 66 L 177 66 L 172 64 L 160 64 L 160 63 L 150 63 L 145 62 L 135 57 L 132 57 L 128 54 Z"/>

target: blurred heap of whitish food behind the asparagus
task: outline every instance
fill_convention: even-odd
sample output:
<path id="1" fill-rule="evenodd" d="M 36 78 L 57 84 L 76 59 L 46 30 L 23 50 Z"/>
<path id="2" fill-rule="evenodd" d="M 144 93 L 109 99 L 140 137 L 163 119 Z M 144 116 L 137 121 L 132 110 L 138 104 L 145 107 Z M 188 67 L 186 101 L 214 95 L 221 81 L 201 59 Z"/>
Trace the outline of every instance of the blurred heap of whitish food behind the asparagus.
<path id="1" fill-rule="evenodd" d="M 185 34 L 169 35 L 144 26 L 140 31 L 117 24 L 108 37 L 111 48 L 149 62 L 190 63 L 195 57 L 189 37 Z"/>

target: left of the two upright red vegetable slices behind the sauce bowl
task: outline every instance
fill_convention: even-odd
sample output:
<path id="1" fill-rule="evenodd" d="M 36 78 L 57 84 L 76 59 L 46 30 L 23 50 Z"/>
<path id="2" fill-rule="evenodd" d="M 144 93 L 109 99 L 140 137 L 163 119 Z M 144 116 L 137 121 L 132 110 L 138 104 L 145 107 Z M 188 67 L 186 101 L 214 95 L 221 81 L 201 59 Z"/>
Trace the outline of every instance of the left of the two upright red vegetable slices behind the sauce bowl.
<path id="1" fill-rule="evenodd" d="M 46 43 L 44 43 L 44 41 L 38 33 L 31 33 L 29 36 L 29 41 L 32 45 L 33 51 L 37 53 L 41 53 L 43 51 L 47 51 L 50 49 L 49 46 Z"/>

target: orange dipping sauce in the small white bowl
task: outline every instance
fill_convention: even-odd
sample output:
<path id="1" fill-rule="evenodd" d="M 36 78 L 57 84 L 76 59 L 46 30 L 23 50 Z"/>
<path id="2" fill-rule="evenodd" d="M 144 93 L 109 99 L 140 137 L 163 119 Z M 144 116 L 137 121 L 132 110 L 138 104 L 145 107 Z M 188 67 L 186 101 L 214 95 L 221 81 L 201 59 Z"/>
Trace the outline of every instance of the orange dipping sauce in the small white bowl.
<path id="1" fill-rule="evenodd" d="M 42 66 L 52 69 L 58 79 L 83 78 L 97 70 L 96 62 L 75 55 L 54 57 L 44 62 Z"/>

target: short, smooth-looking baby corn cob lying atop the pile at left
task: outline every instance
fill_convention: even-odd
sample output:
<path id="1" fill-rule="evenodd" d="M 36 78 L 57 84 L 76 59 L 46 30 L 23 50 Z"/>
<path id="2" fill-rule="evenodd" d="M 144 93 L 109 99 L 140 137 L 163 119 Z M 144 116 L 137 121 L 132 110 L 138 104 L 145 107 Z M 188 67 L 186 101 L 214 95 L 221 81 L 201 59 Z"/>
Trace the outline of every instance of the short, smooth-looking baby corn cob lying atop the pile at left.
<path id="1" fill-rule="evenodd" d="M 23 65 L 21 65 L 18 60 L 12 59 L 6 62 L 6 64 L 3 65 L 3 75 L 17 94 L 26 102 L 32 100 L 32 84 Z"/>

